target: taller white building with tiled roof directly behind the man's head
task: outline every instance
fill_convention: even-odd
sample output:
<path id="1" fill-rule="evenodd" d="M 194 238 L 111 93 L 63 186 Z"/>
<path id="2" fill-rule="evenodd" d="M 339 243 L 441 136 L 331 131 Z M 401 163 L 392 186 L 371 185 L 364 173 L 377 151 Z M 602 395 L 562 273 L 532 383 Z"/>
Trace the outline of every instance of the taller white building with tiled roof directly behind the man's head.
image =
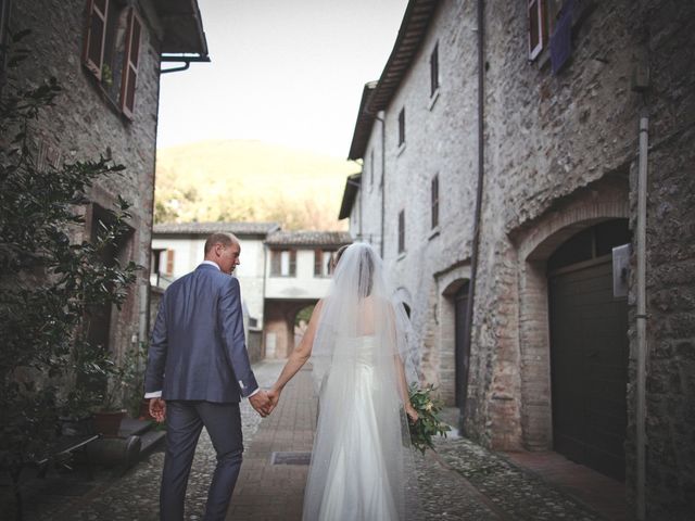
<path id="1" fill-rule="evenodd" d="M 156 314 L 160 295 L 179 277 L 192 271 L 204 258 L 205 239 L 211 233 L 230 232 L 241 243 L 241 263 L 235 276 L 241 285 L 247 347 L 253 361 L 261 359 L 264 288 L 266 282 L 265 246 L 268 233 L 278 231 L 276 223 L 187 223 L 154 225 L 152 230 L 152 314 Z"/>

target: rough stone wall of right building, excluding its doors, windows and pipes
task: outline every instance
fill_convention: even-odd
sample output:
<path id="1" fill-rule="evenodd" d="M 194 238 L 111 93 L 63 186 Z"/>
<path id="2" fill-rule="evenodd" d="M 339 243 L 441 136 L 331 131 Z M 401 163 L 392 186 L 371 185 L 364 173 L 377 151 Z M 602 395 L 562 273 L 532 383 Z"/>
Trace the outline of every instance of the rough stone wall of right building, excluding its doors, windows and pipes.
<path id="1" fill-rule="evenodd" d="M 425 377 L 440 385 L 450 404 L 452 294 L 470 277 L 477 188 L 475 3 L 439 3 L 415 62 L 383 113 L 384 262 L 399 294 L 409 295 Z M 549 46 L 528 60 L 527 4 L 485 2 L 485 177 L 465 430 L 497 449 L 553 448 L 546 260 L 572 234 L 602 220 L 629 218 L 634 230 L 639 120 L 646 110 L 652 143 L 647 512 L 648 519 L 692 518 L 695 7 L 666 0 L 578 0 L 574 5 L 571 59 L 553 74 Z M 431 97 L 429 56 L 437 42 L 441 86 Z M 650 85 L 642 94 L 632 78 L 645 63 Z M 406 140 L 399 148 L 404 106 Z M 378 177 L 374 187 L 369 180 L 369 154 L 375 150 L 379 157 L 380 148 L 377 120 L 358 194 L 374 230 L 381 225 L 381 194 Z M 434 174 L 440 175 L 438 229 L 429 218 Z M 399 253 L 402 209 L 406 247 Z M 378 232 L 372 233 L 378 243 Z M 633 275 L 626 331 L 631 342 L 627 491 L 633 506 L 635 292 Z"/>

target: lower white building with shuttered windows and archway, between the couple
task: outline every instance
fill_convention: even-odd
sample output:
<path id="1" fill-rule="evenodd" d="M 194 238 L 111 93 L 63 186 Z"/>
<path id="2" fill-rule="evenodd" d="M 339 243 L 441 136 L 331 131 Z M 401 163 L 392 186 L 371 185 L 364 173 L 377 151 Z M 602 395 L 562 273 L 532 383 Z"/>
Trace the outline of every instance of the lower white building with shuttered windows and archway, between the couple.
<path id="1" fill-rule="evenodd" d="M 263 314 L 265 358 L 286 358 L 292 352 L 298 314 L 326 295 L 333 252 L 351 242 L 345 231 L 276 231 L 268 234 Z"/>

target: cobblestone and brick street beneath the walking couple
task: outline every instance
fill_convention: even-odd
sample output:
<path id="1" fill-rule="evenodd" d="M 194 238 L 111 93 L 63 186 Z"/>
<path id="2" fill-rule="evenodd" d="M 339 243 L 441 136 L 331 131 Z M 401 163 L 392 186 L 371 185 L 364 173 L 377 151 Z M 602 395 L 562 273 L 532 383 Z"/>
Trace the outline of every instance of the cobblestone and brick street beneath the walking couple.
<path id="1" fill-rule="evenodd" d="M 281 363 L 255 366 L 262 385 L 269 385 Z M 243 402 L 244 463 L 232 498 L 229 520 L 301 519 L 306 465 L 273 465 L 273 453 L 306 455 L 315 424 L 311 376 L 301 371 L 288 385 L 280 406 L 266 420 Z M 627 519 L 599 513 L 554 486 L 536 473 L 523 470 L 514 458 L 492 454 L 462 437 L 437 442 L 437 453 L 418 454 L 418 479 L 427 520 L 601 520 Z M 277 457 L 277 455 L 276 455 Z M 151 454 L 123 475 L 101 470 L 94 482 L 70 475 L 27 497 L 28 520 L 155 520 L 160 473 L 164 455 Z M 203 431 L 193 462 L 187 520 L 202 519 L 215 455 Z M 71 493 L 71 486 L 74 493 Z M 84 492 L 79 494 L 80 486 Z M 53 487 L 54 494 L 50 494 Z M 62 488 L 62 490 L 61 490 Z"/>

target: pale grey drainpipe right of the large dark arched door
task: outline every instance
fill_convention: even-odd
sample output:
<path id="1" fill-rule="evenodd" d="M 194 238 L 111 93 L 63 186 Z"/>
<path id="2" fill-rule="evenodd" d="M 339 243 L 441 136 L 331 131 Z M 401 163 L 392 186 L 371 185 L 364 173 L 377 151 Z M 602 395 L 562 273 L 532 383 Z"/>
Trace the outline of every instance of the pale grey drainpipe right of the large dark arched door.
<path id="1" fill-rule="evenodd" d="M 646 221 L 647 221 L 647 161 L 649 147 L 649 118 L 640 118 L 640 162 L 637 166 L 637 381 L 636 381 L 636 449 L 637 449 L 637 520 L 646 519 Z"/>

